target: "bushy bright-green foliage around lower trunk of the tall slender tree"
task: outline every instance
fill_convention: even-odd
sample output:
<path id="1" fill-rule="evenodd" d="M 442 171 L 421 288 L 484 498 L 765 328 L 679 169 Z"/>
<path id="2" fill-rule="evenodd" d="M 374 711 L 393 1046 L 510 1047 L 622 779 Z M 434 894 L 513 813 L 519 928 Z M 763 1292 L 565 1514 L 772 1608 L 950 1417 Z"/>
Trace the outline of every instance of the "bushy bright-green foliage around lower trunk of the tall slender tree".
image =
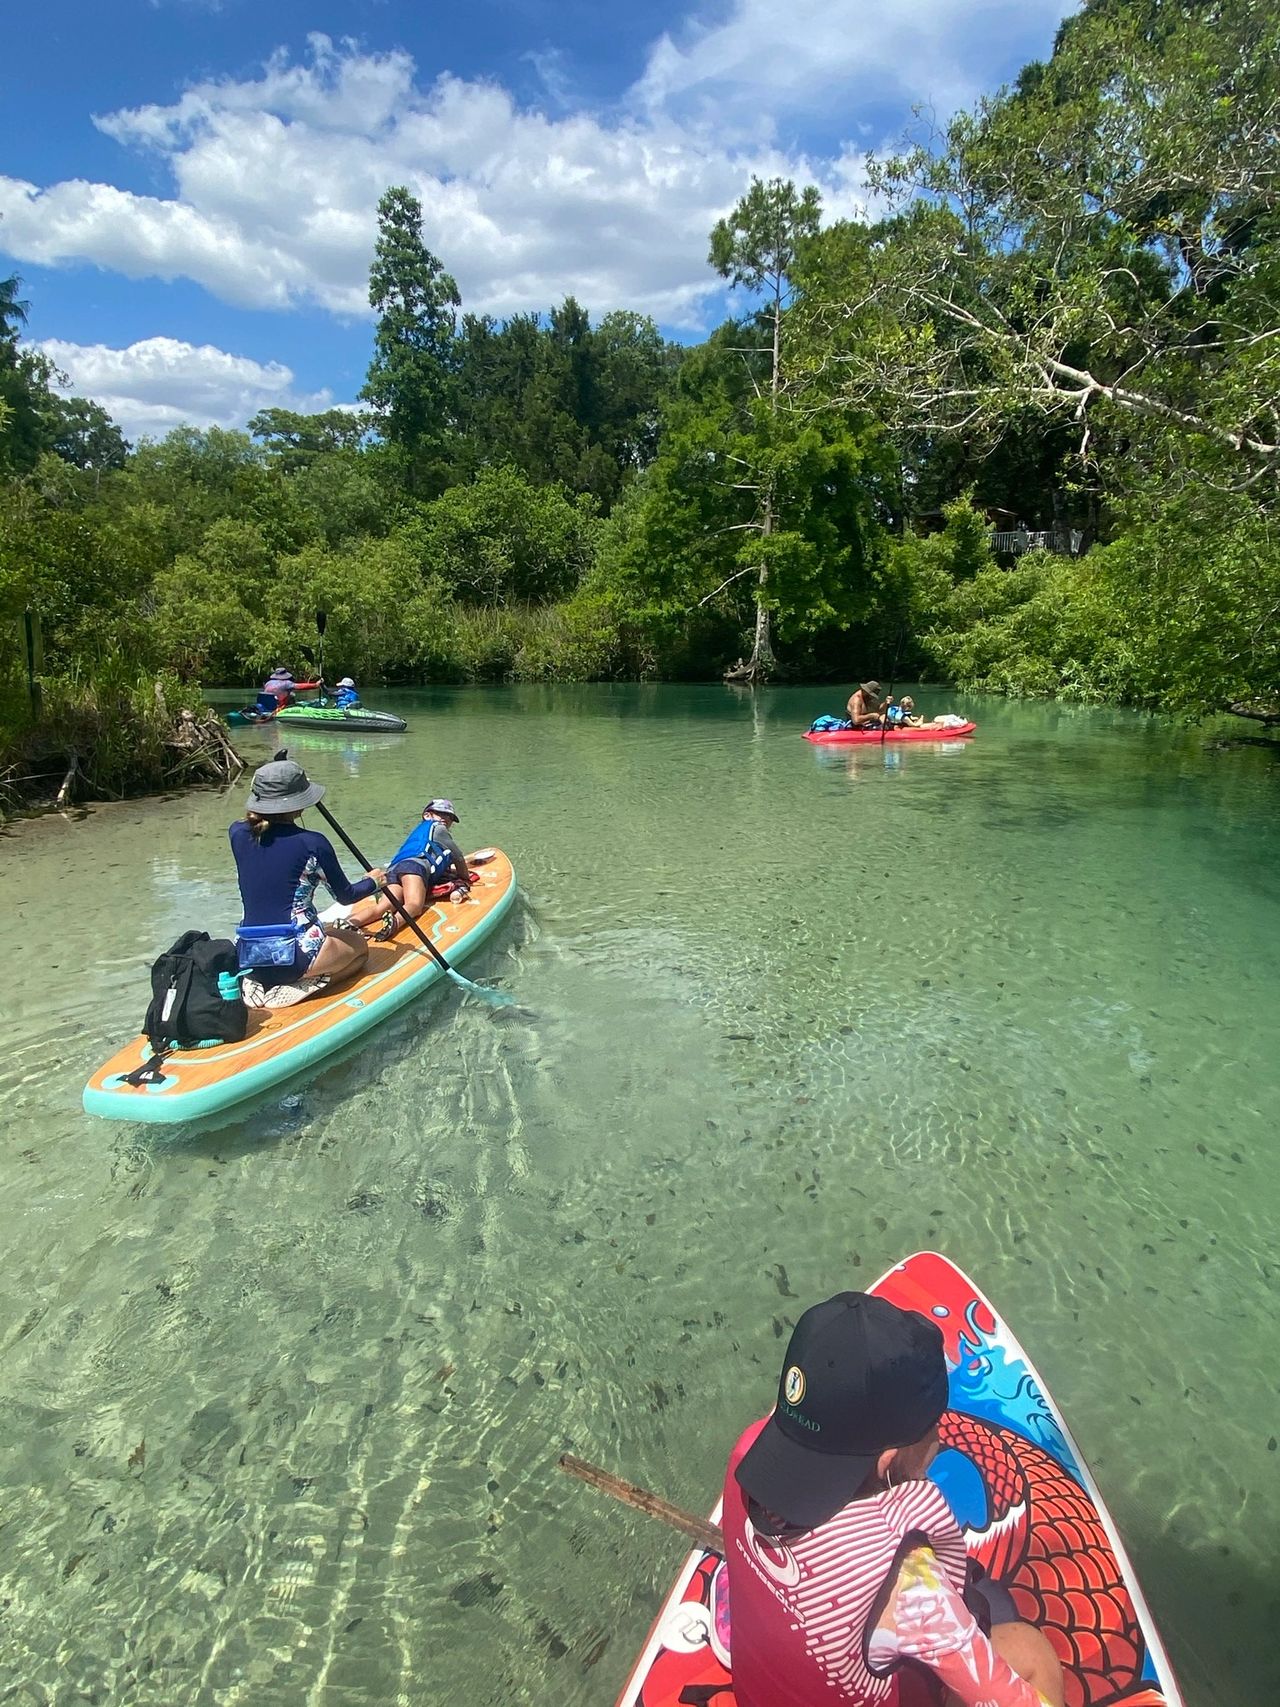
<path id="1" fill-rule="evenodd" d="M 744 358 L 753 340 L 759 362 Z M 584 597 L 606 601 L 642 673 L 722 667 L 761 604 L 770 637 L 788 645 L 872 613 L 893 478 L 884 444 L 836 413 L 775 417 L 759 394 L 768 353 L 768 324 L 749 323 L 686 357 L 659 454 L 604 529 Z"/>

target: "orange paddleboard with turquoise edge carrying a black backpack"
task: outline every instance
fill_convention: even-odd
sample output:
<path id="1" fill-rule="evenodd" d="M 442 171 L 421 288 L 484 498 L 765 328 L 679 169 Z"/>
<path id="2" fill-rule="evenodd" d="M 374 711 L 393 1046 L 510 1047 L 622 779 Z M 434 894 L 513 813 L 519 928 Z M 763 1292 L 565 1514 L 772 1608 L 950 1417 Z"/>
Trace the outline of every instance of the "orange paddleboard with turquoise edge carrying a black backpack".
<path id="1" fill-rule="evenodd" d="M 451 966 L 466 959 L 493 934 L 515 900 L 515 872 L 505 854 L 486 850 L 478 862 L 471 896 L 430 906 L 418 923 Z M 369 944 L 358 978 L 348 978 L 295 1007 L 249 1009 L 249 1029 L 239 1043 L 174 1050 L 164 1075 L 142 1086 L 125 1075 L 150 1055 L 135 1038 L 99 1067 L 84 1091 L 90 1115 L 108 1120 L 177 1121 L 218 1115 L 270 1091 L 360 1038 L 370 1026 L 444 978 L 437 961 L 408 925 L 387 942 Z"/>

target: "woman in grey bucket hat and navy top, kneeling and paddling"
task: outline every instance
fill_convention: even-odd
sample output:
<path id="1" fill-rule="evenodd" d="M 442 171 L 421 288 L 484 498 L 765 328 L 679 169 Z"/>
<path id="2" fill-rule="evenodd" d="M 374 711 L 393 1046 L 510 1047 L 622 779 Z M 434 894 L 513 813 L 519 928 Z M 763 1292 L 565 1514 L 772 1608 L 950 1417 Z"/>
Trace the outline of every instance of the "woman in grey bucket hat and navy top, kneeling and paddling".
<path id="1" fill-rule="evenodd" d="M 369 956 L 358 930 L 319 922 L 316 886 L 324 883 L 340 901 L 364 901 L 386 883 L 386 872 L 348 883 L 329 838 L 302 828 L 302 813 L 323 794 L 300 765 L 276 753 L 254 772 L 247 811 L 230 826 L 244 903 L 236 929 L 239 963 L 265 988 L 302 978 L 348 978 Z"/>

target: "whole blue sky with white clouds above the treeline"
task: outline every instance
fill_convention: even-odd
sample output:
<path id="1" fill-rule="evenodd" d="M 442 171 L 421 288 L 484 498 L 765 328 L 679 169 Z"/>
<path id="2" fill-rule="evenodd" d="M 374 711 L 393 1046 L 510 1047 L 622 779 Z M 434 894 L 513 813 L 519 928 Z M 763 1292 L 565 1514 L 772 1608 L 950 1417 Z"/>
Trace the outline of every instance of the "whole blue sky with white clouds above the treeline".
<path id="1" fill-rule="evenodd" d="M 857 212 L 862 157 L 1044 55 L 1062 0 L 48 0 L 0 65 L 0 271 L 131 437 L 350 401 L 375 203 L 464 306 L 575 294 L 696 338 L 753 172 Z"/>

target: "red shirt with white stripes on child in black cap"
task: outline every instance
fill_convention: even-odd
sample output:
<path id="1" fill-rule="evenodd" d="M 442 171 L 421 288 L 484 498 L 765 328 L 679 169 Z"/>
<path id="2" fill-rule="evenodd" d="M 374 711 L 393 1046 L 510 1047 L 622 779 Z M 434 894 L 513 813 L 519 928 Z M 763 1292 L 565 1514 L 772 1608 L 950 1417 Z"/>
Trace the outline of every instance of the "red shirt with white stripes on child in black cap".
<path id="1" fill-rule="evenodd" d="M 734 1477 L 766 1420 L 739 1439 L 724 1485 L 737 1707 L 896 1707 L 894 1673 L 869 1669 L 867 1622 L 915 1545 L 932 1547 L 949 1582 L 964 1589 L 959 1526 L 932 1482 L 905 1482 L 770 1543 Z"/>

